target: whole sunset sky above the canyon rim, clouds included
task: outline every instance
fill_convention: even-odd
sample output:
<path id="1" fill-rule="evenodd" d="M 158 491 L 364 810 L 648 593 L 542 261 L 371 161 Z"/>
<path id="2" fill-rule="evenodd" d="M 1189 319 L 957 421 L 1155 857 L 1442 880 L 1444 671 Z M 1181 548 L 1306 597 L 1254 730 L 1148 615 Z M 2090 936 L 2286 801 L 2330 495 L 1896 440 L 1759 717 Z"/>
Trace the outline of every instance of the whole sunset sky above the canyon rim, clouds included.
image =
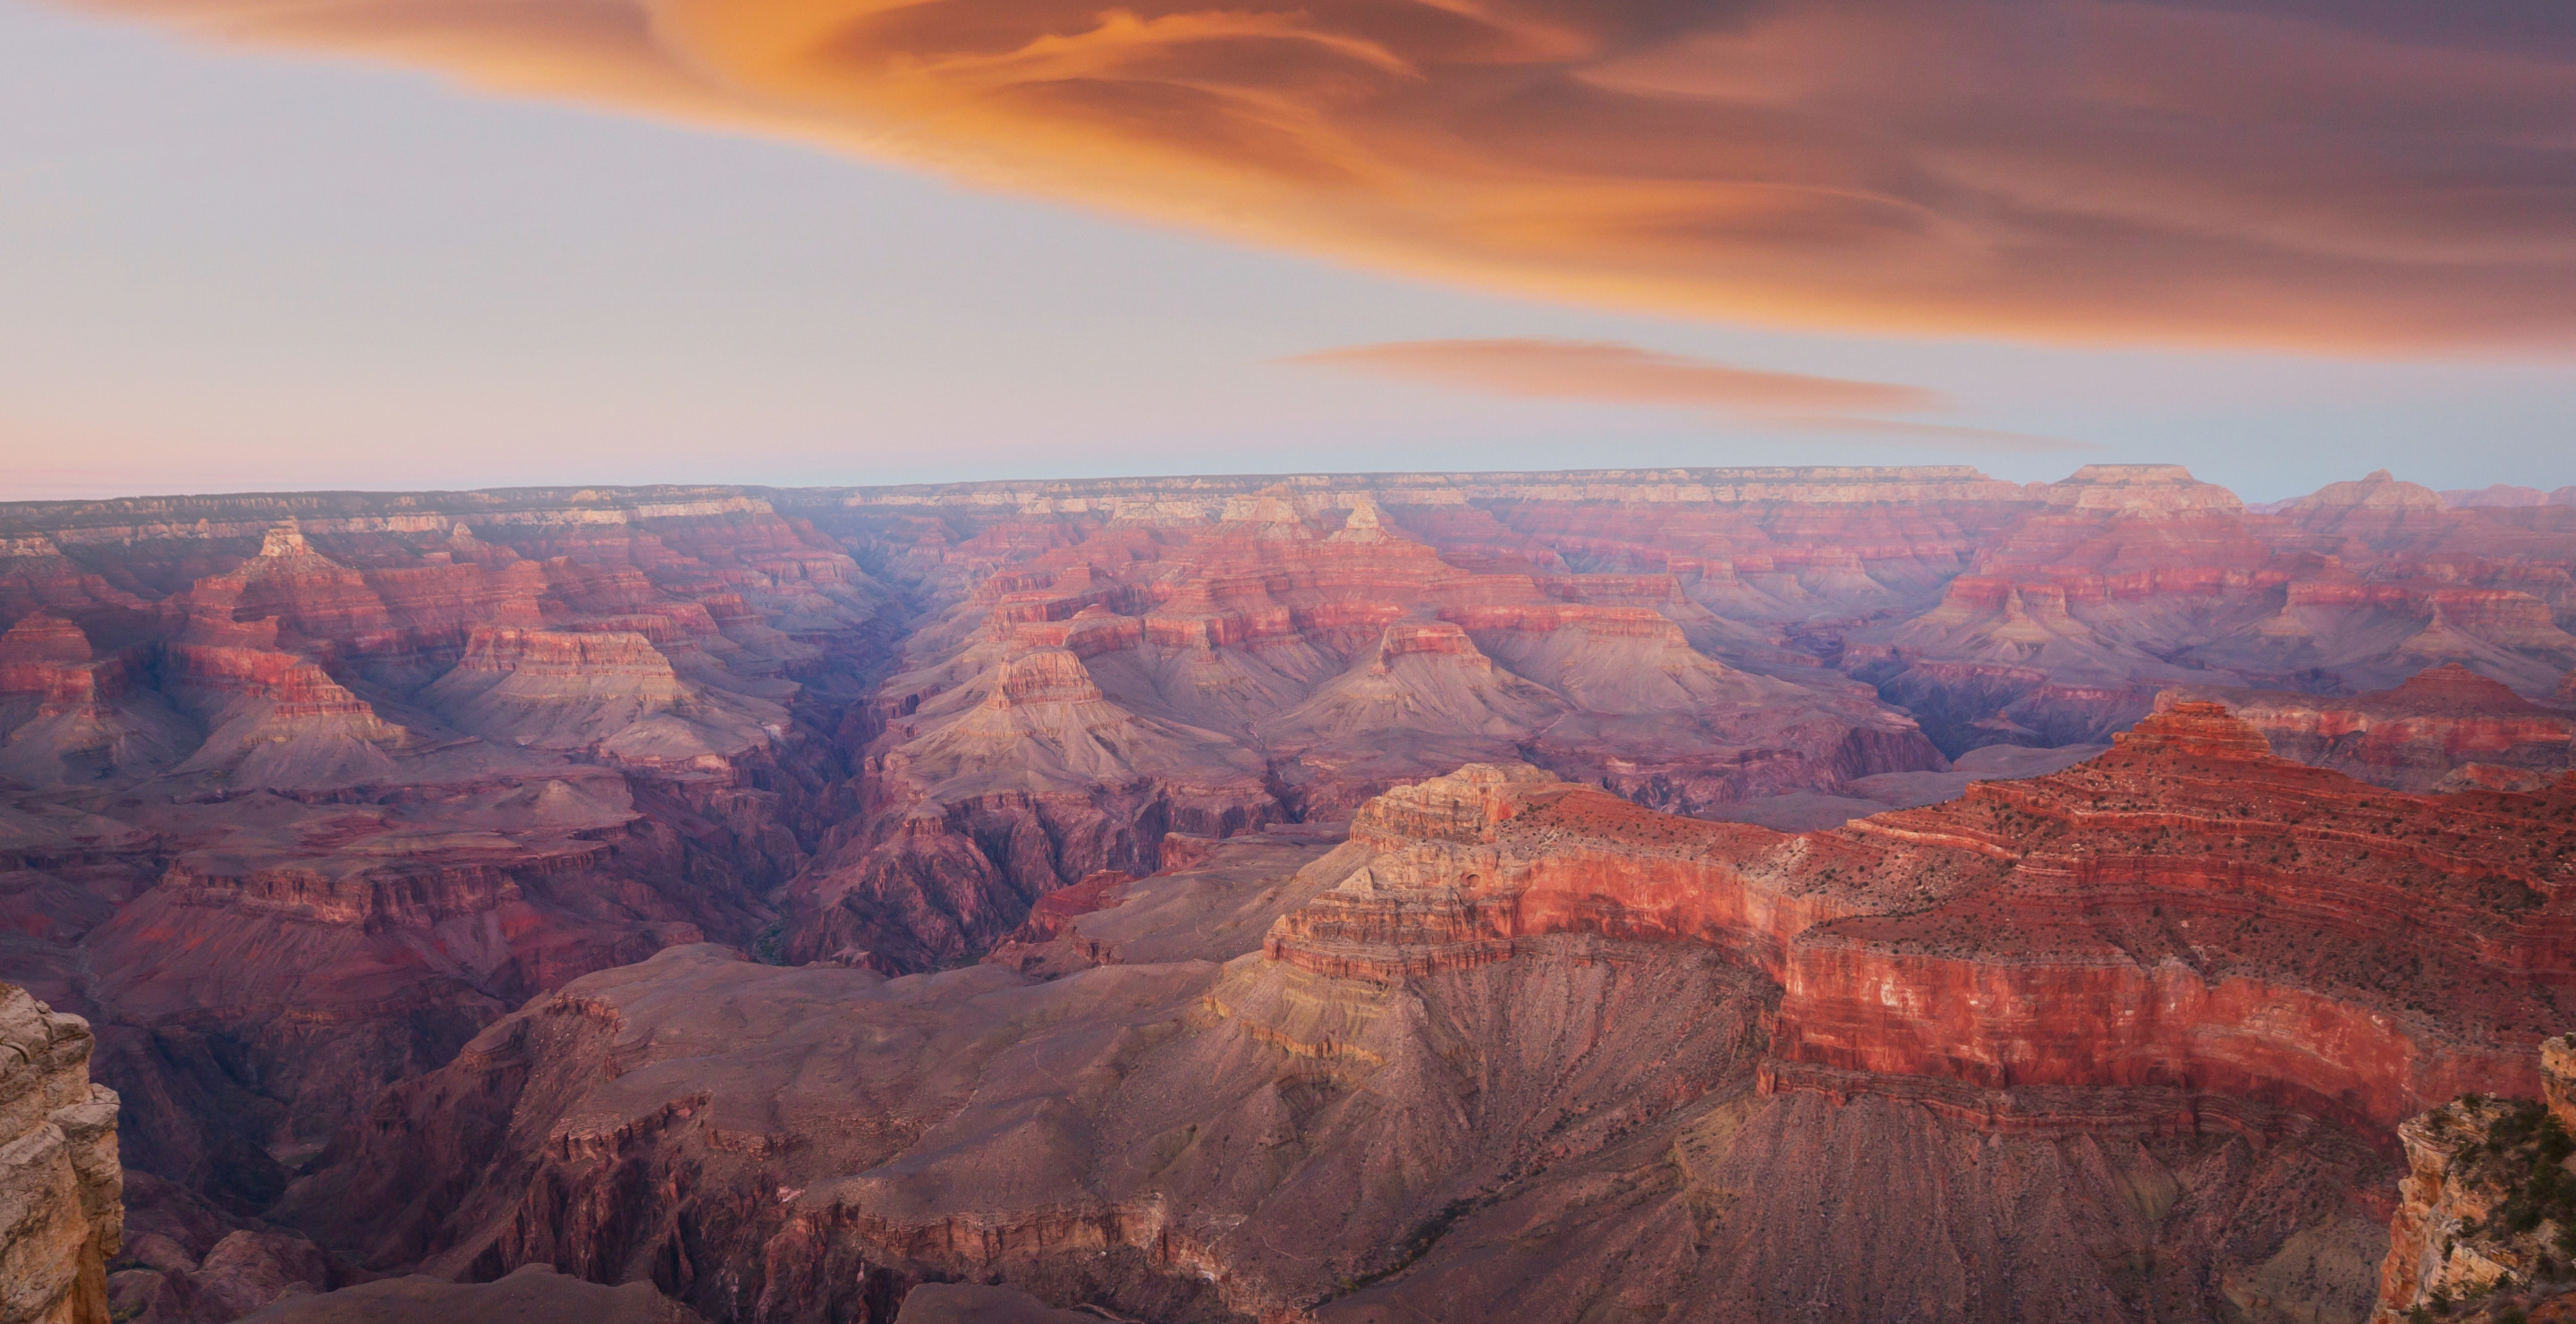
<path id="1" fill-rule="evenodd" d="M 2558 0 L 0 0 L 0 500 L 2576 484 Z"/>

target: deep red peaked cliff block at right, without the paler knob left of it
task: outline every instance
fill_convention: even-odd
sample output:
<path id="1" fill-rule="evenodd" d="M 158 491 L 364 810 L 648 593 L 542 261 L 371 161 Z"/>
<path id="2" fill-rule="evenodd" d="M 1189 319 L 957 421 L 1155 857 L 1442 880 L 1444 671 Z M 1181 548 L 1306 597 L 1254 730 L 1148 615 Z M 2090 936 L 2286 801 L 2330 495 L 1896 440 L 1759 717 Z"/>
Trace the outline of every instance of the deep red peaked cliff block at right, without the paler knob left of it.
<path id="1" fill-rule="evenodd" d="M 2048 778 L 1844 829 L 1911 904 L 1806 930 L 1772 1054 L 1984 1092 L 2172 1087 L 2396 1126 L 2527 1090 L 2566 1015 L 2548 793 L 2398 796 L 2269 757 L 2210 703 Z"/>

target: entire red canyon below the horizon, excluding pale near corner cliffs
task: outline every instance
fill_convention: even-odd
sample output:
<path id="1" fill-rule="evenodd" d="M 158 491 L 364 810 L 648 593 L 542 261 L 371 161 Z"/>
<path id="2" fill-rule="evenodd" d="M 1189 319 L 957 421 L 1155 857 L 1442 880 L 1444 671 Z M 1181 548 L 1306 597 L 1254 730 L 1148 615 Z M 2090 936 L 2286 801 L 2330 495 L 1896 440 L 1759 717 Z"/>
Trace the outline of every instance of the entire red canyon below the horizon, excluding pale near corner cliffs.
<path id="1" fill-rule="evenodd" d="M 2568 1028 L 2571 572 L 2177 466 L 21 502 L 0 979 L 121 1319 L 2360 1321 Z"/>

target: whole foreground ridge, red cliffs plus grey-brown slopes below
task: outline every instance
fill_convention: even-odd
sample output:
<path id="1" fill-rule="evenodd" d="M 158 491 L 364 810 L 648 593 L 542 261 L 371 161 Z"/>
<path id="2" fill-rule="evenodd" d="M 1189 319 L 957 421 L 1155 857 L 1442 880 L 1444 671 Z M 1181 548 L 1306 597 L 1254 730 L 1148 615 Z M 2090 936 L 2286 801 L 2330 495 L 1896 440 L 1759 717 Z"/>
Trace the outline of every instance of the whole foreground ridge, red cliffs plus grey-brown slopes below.
<path id="1" fill-rule="evenodd" d="M 2388 1126 L 2527 1082 L 2561 1015 L 2563 811 L 2213 706 L 1816 835 L 1473 765 L 1059 894 L 981 969 L 585 976 L 289 1208 L 708 1319 L 1002 1278 L 1151 1319 L 2360 1321 Z"/>

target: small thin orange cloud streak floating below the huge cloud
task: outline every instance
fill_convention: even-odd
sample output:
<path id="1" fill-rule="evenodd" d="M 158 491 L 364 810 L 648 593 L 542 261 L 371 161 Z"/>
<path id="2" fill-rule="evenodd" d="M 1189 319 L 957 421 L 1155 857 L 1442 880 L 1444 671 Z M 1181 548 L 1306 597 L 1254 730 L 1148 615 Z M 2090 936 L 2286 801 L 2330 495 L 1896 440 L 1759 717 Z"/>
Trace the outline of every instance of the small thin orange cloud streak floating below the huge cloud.
<path id="1" fill-rule="evenodd" d="M 1947 404 L 1940 392 L 1922 386 L 1736 368 L 1708 358 L 1641 350 L 1618 340 L 1396 340 L 1301 353 L 1280 363 L 1345 368 L 1522 399 L 1716 410 L 1770 428 L 1870 433 L 1942 443 L 1960 451 L 2099 451 L 2092 443 L 2032 433 L 1865 417 L 1873 412 L 1909 415 Z"/>

